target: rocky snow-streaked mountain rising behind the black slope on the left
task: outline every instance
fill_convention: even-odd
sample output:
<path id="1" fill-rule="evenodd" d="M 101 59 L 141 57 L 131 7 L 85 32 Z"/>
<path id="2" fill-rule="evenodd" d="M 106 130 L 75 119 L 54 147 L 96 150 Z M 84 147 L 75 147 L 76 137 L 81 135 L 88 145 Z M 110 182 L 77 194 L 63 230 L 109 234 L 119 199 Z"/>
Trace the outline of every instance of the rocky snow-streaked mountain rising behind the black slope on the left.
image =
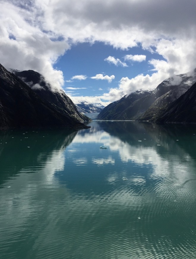
<path id="1" fill-rule="evenodd" d="M 42 100 L 54 107 L 59 113 L 69 115 L 80 122 L 89 121 L 90 119 L 80 114 L 72 100 L 62 90 L 53 91 L 52 86 L 47 83 L 44 77 L 33 70 L 18 71 L 12 70 L 23 82 L 37 93 Z"/>

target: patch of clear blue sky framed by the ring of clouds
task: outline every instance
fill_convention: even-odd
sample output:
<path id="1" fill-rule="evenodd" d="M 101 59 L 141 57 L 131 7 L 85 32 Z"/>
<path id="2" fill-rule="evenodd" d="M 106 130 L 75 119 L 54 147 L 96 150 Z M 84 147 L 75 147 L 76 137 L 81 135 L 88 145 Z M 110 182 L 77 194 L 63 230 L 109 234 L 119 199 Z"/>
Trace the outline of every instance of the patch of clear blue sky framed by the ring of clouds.
<path id="1" fill-rule="evenodd" d="M 141 62 L 127 61 L 124 60 L 126 55 L 143 55 L 146 57 Z M 121 60 L 126 65 L 124 64 L 123 66 L 119 62 L 117 65 L 109 63 L 105 60 L 109 56 L 114 57 L 116 60 Z M 56 68 L 63 71 L 65 79 L 63 88 L 66 93 L 72 96 L 102 95 L 111 87 L 118 88 L 122 77 L 133 78 L 138 74 L 151 75 L 153 73 L 151 69 L 154 67 L 148 61 L 153 58 L 164 59 L 161 55 L 143 50 L 139 46 L 121 50 L 119 48 L 113 48 L 110 45 L 105 45 L 102 42 L 95 42 L 94 44 L 78 43 L 59 58 Z M 115 78 L 111 82 L 108 82 L 108 80 L 91 79 L 91 77 L 97 74 L 102 74 L 103 76 L 114 75 Z M 84 79 L 72 79 L 72 77 L 77 75 L 83 75 L 85 77 Z"/>

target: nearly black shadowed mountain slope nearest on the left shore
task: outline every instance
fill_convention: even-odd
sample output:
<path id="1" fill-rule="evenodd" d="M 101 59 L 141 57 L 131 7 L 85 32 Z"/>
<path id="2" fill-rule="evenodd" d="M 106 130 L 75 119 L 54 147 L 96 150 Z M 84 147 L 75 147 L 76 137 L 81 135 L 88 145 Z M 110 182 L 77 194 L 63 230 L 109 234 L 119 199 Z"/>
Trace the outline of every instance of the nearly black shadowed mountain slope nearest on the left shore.
<path id="1" fill-rule="evenodd" d="M 71 114 L 72 112 L 70 112 Z M 68 112 L 44 101 L 0 64 L 0 128 L 66 126 L 87 128 Z"/>

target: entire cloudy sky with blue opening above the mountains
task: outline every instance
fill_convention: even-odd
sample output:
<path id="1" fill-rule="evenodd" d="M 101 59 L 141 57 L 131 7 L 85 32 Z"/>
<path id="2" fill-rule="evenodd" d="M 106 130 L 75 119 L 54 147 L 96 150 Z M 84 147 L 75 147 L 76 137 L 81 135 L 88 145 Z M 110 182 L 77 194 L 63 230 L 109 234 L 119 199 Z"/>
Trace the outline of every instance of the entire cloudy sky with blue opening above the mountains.
<path id="1" fill-rule="evenodd" d="M 1 0 L 0 63 L 107 105 L 196 67 L 195 0 Z"/>

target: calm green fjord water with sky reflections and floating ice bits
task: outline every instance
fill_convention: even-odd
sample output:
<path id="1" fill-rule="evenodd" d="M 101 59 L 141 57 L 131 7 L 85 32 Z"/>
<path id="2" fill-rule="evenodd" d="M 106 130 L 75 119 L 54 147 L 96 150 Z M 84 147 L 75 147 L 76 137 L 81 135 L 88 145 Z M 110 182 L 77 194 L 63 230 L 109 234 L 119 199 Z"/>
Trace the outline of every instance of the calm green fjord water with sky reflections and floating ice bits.
<path id="1" fill-rule="evenodd" d="M 196 258 L 196 127 L 90 126 L 0 132 L 0 257 Z"/>

